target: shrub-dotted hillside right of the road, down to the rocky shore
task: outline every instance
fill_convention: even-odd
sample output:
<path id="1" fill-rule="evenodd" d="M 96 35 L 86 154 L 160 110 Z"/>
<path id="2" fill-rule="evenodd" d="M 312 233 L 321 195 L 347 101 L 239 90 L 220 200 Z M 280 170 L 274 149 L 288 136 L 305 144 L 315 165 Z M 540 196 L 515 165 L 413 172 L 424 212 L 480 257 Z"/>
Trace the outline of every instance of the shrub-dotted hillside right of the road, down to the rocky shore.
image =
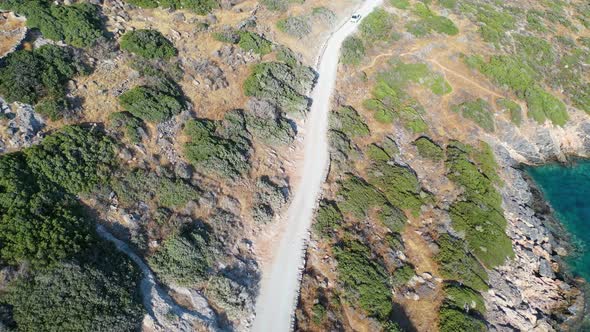
<path id="1" fill-rule="evenodd" d="M 344 45 L 305 331 L 579 330 L 519 166 L 590 153 L 583 1 L 386 1 Z"/>

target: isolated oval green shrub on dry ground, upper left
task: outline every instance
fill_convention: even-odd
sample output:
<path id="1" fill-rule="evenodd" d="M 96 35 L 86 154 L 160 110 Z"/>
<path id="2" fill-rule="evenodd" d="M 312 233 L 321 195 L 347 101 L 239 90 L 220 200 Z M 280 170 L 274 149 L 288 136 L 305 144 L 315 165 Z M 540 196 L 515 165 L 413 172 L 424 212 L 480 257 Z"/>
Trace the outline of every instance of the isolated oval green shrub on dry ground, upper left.
<path id="1" fill-rule="evenodd" d="M 121 37 L 121 49 L 148 59 L 169 59 L 177 51 L 160 31 L 139 29 Z"/>

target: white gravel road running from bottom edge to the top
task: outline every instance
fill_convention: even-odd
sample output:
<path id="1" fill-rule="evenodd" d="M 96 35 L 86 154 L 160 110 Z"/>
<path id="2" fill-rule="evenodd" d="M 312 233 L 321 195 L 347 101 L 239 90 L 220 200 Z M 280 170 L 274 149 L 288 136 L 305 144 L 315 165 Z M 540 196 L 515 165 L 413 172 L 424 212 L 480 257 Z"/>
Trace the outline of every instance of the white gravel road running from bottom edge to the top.
<path id="1" fill-rule="evenodd" d="M 356 13 L 364 18 L 382 1 L 366 0 Z M 316 68 L 318 83 L 312 93 L 313 104 L 305 128 L 305 159 L 299 170 L 301 182 L 287 212 L 287 226 L 274 251 L 272 264 L 263 271 L 252 331 L 285 332 L 291 329 L 309 227 L 329 166 L 328 114 L 336 83 L 340 46 L 357 27 L 358 23 L 344 23 L 328 39 L 320 56 Z"/>

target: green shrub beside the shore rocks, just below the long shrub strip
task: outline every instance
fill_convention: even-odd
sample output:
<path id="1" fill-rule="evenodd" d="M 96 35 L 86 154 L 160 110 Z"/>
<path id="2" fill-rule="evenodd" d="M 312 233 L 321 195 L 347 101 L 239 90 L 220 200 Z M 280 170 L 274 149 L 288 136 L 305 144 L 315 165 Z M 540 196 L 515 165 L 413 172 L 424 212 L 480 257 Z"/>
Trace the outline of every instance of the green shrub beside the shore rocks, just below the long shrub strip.
<path id="1" fill-rule="evenodd" d="M 464 241 L 443 234 L 437 244 L 439 252 L 435 260 L 443 278 L 456 280 L 478 291 L 488 289 L 488 274 L 477 259 L 467 252 Z"/>

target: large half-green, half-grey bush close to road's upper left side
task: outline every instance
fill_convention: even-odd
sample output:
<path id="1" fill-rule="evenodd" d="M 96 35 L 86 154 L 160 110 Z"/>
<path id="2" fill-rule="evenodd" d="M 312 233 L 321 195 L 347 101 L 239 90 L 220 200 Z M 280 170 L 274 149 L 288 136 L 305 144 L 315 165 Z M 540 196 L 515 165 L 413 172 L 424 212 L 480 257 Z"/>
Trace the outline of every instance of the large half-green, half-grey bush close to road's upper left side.
<path id="1" fill-rule="evenodd" d="M 307 110 L 307 93 L 315 82 L 314 71 L 302 65 L 282 62 L 263 62 L 252 69 L 244 82 L 244 93 L 263 100 L 270 100 L 287 113 Z"/>

